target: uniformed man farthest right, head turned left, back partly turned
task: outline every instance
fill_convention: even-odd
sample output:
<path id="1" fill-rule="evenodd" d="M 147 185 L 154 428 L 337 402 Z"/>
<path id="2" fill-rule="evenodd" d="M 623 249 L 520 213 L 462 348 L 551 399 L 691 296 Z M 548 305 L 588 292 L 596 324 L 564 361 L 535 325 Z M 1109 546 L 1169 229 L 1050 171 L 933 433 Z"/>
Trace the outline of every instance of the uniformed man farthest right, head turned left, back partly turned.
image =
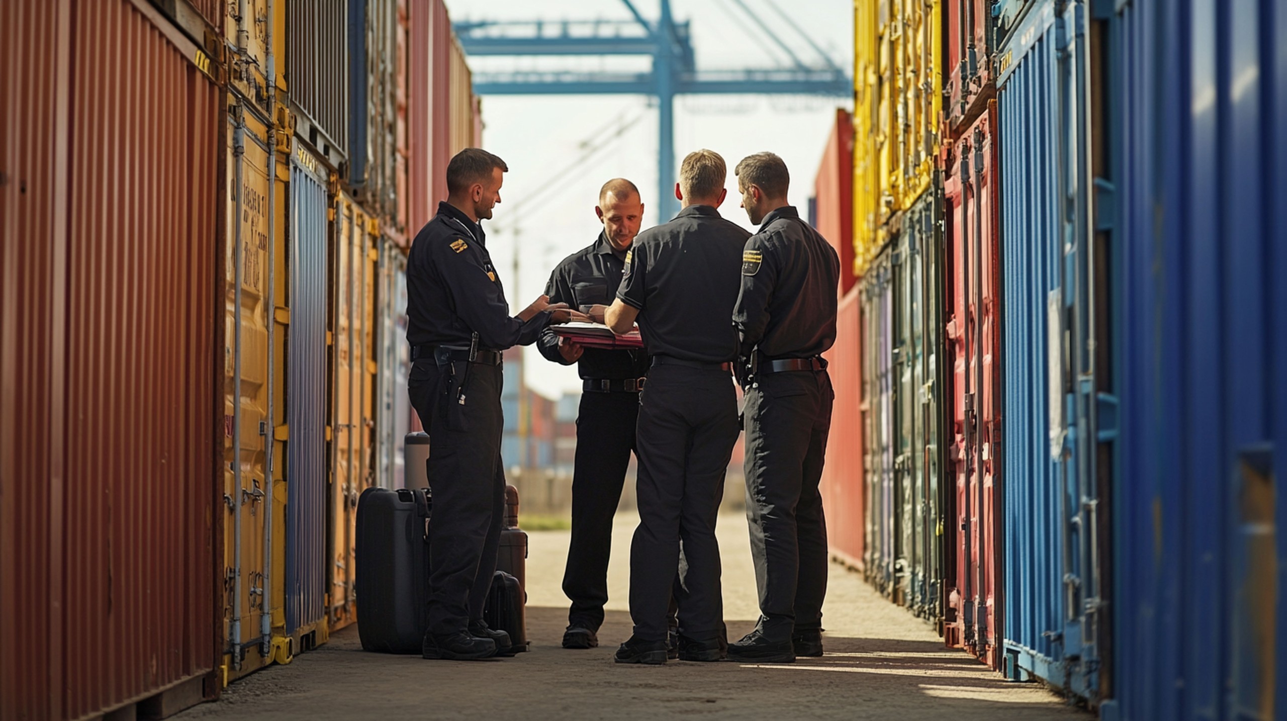
<path id="1" fill-rule="evenodd" d="M 840 260 L 786 203 L 782 158 L 755 153 L 734 174 L 759 225 L 743 254 L 732 321 L 746 363 L 746 520 L 761 617 L 728 644 L 728 658 L 790 663 L 822 655 L 828 551 L 817 487 L 835 394 L 821 354 L 835 342 Z"/>

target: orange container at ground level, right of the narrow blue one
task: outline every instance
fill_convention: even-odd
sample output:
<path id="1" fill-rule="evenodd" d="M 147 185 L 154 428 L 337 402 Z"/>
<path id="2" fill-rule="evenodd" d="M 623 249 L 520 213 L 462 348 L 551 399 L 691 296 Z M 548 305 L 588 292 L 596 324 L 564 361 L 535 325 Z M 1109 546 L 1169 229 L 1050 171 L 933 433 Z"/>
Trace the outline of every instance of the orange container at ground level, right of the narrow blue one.
<path id="1" fill-rule="evenodd" d="M 331 308 L 331 447 L 327 510 L 332 631 L 356 619 L 358 497 L 375 483 L 376 261 L 380 221 L 341 194 L 335 225 Z"/>

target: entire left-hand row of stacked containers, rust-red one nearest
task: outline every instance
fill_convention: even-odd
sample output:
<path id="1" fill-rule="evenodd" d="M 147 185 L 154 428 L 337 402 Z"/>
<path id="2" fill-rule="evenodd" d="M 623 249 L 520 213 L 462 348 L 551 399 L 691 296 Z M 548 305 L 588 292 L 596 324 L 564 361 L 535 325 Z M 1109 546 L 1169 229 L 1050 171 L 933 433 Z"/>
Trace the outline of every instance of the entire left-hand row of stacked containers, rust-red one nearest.
<path id="1" fill-rule="evenodd" d="M 9 3 L 0 37 L 0 717 L 163 716 L 354 621 L 416 422 L 405 254 L 479 103 L 441 0 Z"/>

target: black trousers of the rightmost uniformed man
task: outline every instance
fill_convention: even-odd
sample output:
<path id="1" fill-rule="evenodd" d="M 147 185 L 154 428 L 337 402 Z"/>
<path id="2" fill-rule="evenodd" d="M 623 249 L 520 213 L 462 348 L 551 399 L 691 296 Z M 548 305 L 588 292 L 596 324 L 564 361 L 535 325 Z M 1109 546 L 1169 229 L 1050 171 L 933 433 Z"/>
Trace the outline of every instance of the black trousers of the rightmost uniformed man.
<path id="1" fill-rule="evenodd" d="M 762 373 L 746 389 L 746 520 L 767 637 L 821 628 L 822 457 L 835 398 L 826 371 Z"/>

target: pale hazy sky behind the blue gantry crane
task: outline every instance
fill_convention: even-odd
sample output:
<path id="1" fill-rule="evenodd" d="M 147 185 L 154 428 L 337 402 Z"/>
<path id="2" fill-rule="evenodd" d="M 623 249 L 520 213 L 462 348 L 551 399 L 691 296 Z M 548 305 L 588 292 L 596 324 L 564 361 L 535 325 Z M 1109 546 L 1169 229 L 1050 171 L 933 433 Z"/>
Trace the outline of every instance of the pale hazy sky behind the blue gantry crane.
<path id="1" fill-rule="evenodd" d="M 806 63 L 821 59 L 775 12 L 792 19 L 842 68 L 853 64 L 852 0 L 672 0 L 676 21 L 691 21 L 698 70 L 788 67 L 789 57 L 772 42 L 740 5 L 781 37 Z M 447 0 L 453 21 L 463 19 L 629 19 L 619 0 Z M 659 0 L 634 0 L 653 21 Z M 471 58 L 475 72 L 505 70 L 645 71 L 647 58 Z M 834 121 L 835 108 L 852 108 L 847 98 L 789 95 L 680 95 L 676 98 L 674 151 L 710 148 L 728 164 L 725 218 L 754 229 L 737 207 L 732 166 L 744 156 L 773 151 L 792 171 L 790 201 L 806 212 L 813 176 Z M 589 245 L 601 228 L 595 218 L 598 187 L 613 176 L 633 180 L 646 206 L 644 227 L 659 223 L 656 109 L 638 95 L 484 97 L 483 144 L 510 166 L 502 203 L 486 225 L 488 247 L 506 281 L 516 309 L 544 290 L 550 270 L 569 254 Z M 615 136 L 614 136 L 615 135 Z M 589 148 L 606 140 L 579 165 Z M 568 173 L 561 171 L 568 170 Z M 557 179 L 556 179 L 557 176 Z M 530 198 L 530 200 L 528 200 Z M 515 212 L 511 210 L 517 209 Z M 668 220 L 668 219 L 660 219 Z M 517 245 L 520 273 L 514 277 Z M 557 397 L 580 389 L 575 367 L 550 363 L 526 349 L 526 379 L 538 391 Z"/>

